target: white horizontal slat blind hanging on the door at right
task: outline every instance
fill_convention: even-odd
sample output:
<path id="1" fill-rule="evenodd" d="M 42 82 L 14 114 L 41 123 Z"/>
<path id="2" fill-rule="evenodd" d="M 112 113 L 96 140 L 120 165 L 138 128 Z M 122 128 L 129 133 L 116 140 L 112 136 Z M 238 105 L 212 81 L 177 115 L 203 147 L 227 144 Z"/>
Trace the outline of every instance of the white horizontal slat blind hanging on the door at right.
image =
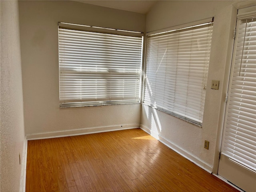
<path id="1" fill-rule="evenodd" d="M 222 154 L 256 171 L 256 18 L 238 22 Z"/>

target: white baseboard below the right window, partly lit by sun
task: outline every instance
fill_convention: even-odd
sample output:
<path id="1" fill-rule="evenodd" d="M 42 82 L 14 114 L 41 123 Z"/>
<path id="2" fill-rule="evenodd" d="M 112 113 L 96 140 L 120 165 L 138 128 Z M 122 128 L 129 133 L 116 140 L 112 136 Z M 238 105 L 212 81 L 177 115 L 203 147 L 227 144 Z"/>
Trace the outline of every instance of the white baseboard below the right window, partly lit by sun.
<path id="1" fill-rule="evenodd" d="M 144 130 L 145 132 L 147 132 L 148 134 L 150 134 L 151 136 L 153 136 L 154 138 L 158 139 L 164 145 L 168 146 L 169 148 L 171 148 L 172 150 L 174 150 L 175 152 L 177 152 L 178 154 L 183 156 L 184 158 L 190 160 L 191 162 L 193 162 L 194 164 L 196 164 L 200 168 L 206 170 L 207 172 L 212 173 L 212 169 L 213 169 L 212 166 L 206 164 L 205 162 L 196 158 L 195 156 L 192 156 L 191 154 L 189 154 L 188 152 L 186 152 L 185 150 L 183 150 L 179 146 L 176 146 L 175 144 L 170 142 L 168 139 L 160 136 L 158 133 L 152 132 L 152 130 L 150 130 L 146 126 L 140 124 L 140 128 L 142 130 Z"/>

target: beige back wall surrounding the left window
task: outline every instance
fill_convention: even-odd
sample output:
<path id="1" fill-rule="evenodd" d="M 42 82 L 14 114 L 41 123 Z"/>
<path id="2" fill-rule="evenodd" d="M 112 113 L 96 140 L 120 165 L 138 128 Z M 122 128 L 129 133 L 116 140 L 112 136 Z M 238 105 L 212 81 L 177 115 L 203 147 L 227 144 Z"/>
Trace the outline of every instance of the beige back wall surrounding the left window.
<path id="1" fill-rule="evenodd" d="M 58 22 L 144 32 L 145 15 L 73 1 L 19 1 L 19 11 L 28 138 L 140 125 L 140 104 L 59 108 Z"/>

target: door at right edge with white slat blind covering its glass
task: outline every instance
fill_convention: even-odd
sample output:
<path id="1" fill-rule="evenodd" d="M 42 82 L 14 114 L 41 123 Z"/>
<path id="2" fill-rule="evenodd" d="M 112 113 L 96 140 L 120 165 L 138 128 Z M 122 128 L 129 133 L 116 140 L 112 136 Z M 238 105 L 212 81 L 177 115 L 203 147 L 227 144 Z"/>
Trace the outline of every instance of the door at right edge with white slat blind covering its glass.
<path id="1" fill-rule="evenodd" d="M 218 174 L 256 192 L 256 6 L 237 18 Z"/>

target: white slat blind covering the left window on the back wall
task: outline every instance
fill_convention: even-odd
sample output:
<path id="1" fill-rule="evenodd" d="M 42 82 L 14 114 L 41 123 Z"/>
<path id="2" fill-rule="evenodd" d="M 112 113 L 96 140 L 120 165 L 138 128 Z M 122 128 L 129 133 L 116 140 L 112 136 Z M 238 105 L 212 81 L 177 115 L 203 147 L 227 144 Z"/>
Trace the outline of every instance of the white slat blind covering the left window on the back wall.
<path id="1" fill-rule="evenodd" d="M 60 106 L 139 102 L 141 33 L 60 25 Z"/>

